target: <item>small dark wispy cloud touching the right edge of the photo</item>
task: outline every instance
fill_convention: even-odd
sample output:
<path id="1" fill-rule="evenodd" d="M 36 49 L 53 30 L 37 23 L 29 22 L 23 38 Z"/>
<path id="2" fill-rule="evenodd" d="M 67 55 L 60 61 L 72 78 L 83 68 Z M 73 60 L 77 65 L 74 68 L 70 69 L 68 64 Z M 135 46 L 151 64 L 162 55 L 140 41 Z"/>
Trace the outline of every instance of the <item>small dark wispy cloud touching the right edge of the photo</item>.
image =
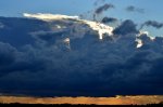
<path id="1" fill-rule="evenodd" d="M 143 26 L 152 26 L 152 27 L 155 27 L 158 29 L 162 28 L 163 27 L 163 23 L 159 23 L 156 21 L 147 21 L 142 24 L 141 28 Z"/>

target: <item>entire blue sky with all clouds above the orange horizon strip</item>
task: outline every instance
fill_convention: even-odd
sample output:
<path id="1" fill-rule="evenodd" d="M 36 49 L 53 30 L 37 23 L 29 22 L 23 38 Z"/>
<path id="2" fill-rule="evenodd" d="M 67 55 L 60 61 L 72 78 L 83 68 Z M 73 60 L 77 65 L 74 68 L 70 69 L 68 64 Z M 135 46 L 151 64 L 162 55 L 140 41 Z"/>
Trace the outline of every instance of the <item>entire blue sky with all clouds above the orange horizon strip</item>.
<path id="1" fill-rule="evenodd" d="M 163 37 L 156 37 L 163 36 L 162 4 L 162 0 L 0 0 L 0 94 L 162 95 Z"/>

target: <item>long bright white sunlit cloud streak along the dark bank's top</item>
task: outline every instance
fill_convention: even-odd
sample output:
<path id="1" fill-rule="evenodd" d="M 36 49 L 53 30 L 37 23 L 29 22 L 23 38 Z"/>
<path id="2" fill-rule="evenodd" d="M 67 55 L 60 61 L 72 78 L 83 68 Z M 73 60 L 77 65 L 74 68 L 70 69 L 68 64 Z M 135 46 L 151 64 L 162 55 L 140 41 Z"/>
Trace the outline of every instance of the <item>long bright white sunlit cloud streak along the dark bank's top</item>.
<path id="1" fill-rule="evenodd" d="M 78 22 L 82 22 L 84 24 L 87 24 L 90 28 L 93 30 L 98 31 L 99 34 L 99 39 L 103 39 L 103 35 L 106 34 L 109 36 L 112 36 L 113 27 L 110 27 L 108 25 L 97 23 L 97 22 L 91 22 L 91 21 L 86 21 L 86 19 L 80 19 L 79 16 L 67 16 L 67 15 L 61 15 L 61 14 L 42 14 L 42 13 L 37 13 L 37 14 L 28 14 L 24 13 L 23 14 L 25 17 L 29 18 L 38 18 L 42 21 L 58 21 L 58 19 L 76 19 Z"/>

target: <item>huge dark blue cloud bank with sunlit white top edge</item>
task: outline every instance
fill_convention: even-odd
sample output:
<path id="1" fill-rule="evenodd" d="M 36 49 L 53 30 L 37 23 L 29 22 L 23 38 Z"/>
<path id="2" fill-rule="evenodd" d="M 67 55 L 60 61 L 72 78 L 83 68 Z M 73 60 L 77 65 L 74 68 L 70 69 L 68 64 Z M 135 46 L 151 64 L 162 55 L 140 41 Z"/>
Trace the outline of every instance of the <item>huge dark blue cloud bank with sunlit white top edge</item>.
<path id="1" fill-rule="evenodd" d="M 113 28 L 74 16 L 46 15 L 0 17 L 4 26 L 0 28 L 0 93 L 163 94 L 162 37 L 151 39 L 130 19 Z"/>

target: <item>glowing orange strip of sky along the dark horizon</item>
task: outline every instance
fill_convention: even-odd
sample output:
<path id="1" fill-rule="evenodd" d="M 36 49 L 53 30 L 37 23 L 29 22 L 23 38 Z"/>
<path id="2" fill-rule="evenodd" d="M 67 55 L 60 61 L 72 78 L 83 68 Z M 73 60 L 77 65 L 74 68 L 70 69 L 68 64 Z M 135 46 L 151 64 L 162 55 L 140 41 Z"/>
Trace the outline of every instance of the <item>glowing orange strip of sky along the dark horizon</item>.
<path id="1" fill-rule="evenodd" d="M 115 97 L 32 97 L 0 96 L 0 104 L 71 104 L 71 105 L 147 105 L 163 104 L 163 95 L 137 95 Z"/>

